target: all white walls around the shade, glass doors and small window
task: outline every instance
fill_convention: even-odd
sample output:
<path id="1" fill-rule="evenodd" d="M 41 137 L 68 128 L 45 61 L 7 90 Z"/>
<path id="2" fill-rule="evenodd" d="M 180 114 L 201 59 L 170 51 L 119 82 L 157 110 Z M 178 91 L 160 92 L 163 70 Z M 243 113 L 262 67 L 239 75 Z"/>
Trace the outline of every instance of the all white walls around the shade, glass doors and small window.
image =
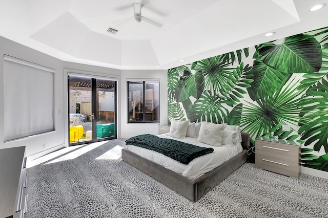
<path id="1" fill-rule="evenodd" d="M 160 79 L 160 120 L 167 122 L 167 71 L 121 71 L 86 64 L 61 61 L 40 53 L 14 41 L 0 36 L 0 149 L 26 146 L 26 155 L 30 160 L 46 155 L 54 150 L 68 146 L 68 87 L 67 72 L 75 72 L 95 77 L 112 77 L 117 79 L 117 137 L 128 138 L 140 133 L 157 134 L 158 124 L 127 124 L 127 82 L 126 78 L 159 78 Z M 4 54 L 27 60 L 52 68 L 54 73 L 54 123 L 55 131 L 26 137 L 18 140 L 4 141 Z M 19 79 L 19 78 L 17 78 Z M 42 106 L 42 105 L 40 105 Z M 8 125 L 6 123 L 6 125 Z M 13 121 L 9 125 L 19 125 Z M 45 148 L 44 148 L 45 144 Z"/>

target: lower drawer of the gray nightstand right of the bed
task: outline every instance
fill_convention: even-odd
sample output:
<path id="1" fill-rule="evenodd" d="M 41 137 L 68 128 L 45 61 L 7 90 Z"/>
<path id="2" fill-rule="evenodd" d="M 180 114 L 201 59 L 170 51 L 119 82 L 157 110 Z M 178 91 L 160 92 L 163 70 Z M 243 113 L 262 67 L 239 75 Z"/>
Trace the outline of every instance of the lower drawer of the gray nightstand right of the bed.
<path id="1" fill-rule="evenodd" d="M 290 177 L 299 177 L 300 165 L 299 163 L 289 162 L 285 160 L 275 159 L 272 157 L 261 156 L 257 154 L 255 156 L 256 167 L 266 169 L 272 172 L 277 172 Z"/>

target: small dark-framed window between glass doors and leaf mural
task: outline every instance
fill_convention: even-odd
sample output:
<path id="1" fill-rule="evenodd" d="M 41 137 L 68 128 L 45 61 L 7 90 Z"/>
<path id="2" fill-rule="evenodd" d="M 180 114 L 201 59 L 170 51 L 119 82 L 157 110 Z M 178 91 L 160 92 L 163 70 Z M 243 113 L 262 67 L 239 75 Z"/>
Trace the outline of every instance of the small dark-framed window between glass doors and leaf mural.
<path id="1" fill-rule="evenodd" d="M 128 123 L 159 123 L 159 81 L 128 81 Z"/>

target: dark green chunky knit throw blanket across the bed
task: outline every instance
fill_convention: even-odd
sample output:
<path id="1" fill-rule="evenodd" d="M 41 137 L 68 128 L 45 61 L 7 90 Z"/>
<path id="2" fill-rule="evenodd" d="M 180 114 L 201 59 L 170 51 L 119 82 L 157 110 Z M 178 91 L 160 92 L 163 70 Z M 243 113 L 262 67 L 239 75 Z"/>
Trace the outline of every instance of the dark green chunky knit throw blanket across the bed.
<path id="1" fill-rule="evenodd" d="M 125 142 L 127 145 L 135 145 L 157 151 L 182 164 L 188 164 L 197 157 L 213 152 L 213 148 L 198 147 L 174 139 L 159 138 L 151 134 L 135 136 Z"/>

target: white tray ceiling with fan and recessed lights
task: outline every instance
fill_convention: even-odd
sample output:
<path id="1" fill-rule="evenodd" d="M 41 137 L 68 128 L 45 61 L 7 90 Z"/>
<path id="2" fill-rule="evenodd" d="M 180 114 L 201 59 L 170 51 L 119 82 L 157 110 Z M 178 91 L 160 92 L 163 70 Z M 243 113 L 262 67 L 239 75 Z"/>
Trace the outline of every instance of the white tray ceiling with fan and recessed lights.
<path id="1" fill-rule="evenodd" d="M 326 27 L 316 3 L 328 0 L 1 0 L 0 35 L 64 61 L 170 69 Z"/>

